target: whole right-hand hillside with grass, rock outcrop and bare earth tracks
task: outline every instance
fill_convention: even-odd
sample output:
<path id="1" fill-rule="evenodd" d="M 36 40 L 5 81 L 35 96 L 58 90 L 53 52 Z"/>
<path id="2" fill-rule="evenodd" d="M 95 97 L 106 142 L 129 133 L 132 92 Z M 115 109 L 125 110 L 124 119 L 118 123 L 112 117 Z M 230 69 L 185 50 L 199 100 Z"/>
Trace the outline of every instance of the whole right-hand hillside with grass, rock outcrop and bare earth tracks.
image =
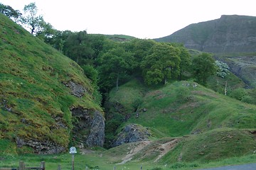
<path id="1" fill-rule="evenodd" d="M 117 162 L 206 162 L 252 154 L 256 147 L 256 106 L 191 81 L 157 89 L 130 81 L 111 92 L 109 105 L 106 115 L 119 122 L 112 144 L 142 141 L 116 155 Z"/>

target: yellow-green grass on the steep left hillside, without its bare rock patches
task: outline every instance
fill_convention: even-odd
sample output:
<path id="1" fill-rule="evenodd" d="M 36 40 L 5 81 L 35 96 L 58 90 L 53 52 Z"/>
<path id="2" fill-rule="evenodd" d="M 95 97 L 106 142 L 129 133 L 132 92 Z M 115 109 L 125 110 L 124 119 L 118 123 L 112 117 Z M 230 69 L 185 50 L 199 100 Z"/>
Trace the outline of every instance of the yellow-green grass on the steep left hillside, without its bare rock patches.
<path id="1" fill-rule="evenodd" d="M 73 128 L 70 108 L 102 111 L 91 95 L 90 80 L 78 64 L 2 14 L 0 30 L 0 142 L 16 144 L 20 137 L 67 147 Z M 84 86 L 87 94 L 71 95 L 65 86 L 69 81 Z M 55 118 L 66 128 L 60 128 Z M 6 152 L 17 154 L 23 149 Z"/>

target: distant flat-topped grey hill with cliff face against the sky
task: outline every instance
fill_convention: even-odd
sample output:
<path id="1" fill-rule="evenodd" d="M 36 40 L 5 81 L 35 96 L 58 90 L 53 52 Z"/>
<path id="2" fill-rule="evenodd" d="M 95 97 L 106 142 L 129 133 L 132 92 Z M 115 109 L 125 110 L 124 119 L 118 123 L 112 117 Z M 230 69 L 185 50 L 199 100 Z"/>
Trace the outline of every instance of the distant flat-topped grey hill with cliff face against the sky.
<path id="1" fill-rule="evenodd" d="M 255 52 L 256 17 L 223 15 L 213 21 L 193 23 L 155 40 L 181 42 L 189 49 L 203 52 Z"/>

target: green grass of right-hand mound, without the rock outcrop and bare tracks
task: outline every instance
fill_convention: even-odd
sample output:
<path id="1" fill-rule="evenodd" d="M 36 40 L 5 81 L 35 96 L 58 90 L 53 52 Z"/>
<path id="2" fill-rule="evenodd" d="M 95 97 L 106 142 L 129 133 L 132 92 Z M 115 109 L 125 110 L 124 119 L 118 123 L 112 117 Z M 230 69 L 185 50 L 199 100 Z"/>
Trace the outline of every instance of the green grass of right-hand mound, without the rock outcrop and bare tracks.
<path id="1" fill-rule="evenodd" d="M 148 91 L 139 81 L 132 84 L 134 88 L 128 89 L 124 84 L 119 91 L 111 93 L 112 103 L 126 96 L 118 102 L 127 111 L 131 111 L 131 100 L 140 98 L 141 101 L 139 118 L 136 113 L 128 112 L 130 118 L 119 130 L 126 124 L 137 123 L 151 131 L 151 140 L 186 136 L 161 162 L 206 162 L 254 152 L 255 105 L 242 103 L 191 81 L 178 81 Z M 133 90 L 137 87 L 144 89 L 143 96 Z M 144 108 L 146 112 L 142 111 Z"/>

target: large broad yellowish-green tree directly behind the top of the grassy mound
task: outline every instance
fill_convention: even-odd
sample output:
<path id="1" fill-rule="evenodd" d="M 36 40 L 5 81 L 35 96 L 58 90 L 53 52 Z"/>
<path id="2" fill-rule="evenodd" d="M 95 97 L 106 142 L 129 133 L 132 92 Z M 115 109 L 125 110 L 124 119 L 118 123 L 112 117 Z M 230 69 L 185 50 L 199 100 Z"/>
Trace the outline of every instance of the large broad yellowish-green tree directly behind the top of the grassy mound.
<path id="1" fill-rule="evenodd" d="M 159 84 L 167 79 L 176 78 L 181 58 L 178 47 L 166 43 L 156 43 L 150 55 L 144 57 L 141 67 L 146 84 Z"/>

